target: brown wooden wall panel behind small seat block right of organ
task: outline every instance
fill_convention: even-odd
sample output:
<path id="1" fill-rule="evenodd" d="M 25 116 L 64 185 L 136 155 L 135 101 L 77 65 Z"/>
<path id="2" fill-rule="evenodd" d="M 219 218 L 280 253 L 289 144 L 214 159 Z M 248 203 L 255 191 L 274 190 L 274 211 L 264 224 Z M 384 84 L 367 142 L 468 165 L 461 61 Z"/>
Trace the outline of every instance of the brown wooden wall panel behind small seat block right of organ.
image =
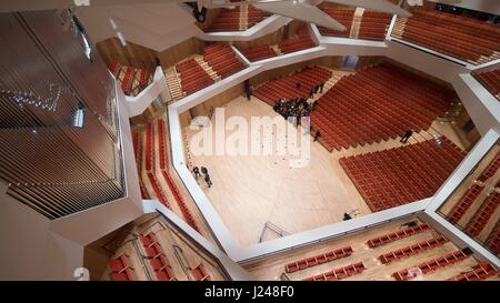
<path id="1" fill-rule="evenodd" d="M 158 57 L 157 51 L 139 44 L 127 42 L 127 46 L 123 47 L 114 37 L 98 42 L 96 48 L 108 67 L 111 61 L 118 61 L 134 68 L 151 69 L 156 65 L 154 58 Z"/>

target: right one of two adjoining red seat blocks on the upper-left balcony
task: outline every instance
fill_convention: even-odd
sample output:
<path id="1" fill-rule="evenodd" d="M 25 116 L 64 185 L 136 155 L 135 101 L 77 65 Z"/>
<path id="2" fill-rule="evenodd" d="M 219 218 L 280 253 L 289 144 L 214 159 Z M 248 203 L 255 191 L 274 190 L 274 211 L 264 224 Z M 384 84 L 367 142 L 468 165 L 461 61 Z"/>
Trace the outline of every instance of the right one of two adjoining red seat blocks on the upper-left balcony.
<path id="1" fill-rule="evenodd" d="M 206 47 L 203 59 L 222 79 L 246 68 L 228 44 L 216 43 Z"/>

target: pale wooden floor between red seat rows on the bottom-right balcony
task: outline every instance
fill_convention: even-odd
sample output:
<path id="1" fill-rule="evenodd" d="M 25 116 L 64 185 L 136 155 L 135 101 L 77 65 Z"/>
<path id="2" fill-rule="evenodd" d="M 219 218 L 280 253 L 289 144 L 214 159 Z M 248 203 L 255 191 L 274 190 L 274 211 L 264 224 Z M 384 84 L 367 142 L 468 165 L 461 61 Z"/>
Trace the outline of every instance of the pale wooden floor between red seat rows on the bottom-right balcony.
<path id="1" fill-rule="evenodd" d="M 344 280 L 359 280 L 359 281 L 391 281 L 394 280 L 392 274 L 397 271 L 409 269 L 416 266 L 420 263 L 429 261 L 434 257 L 439 257 L 449 252 L 457 251 L 458 248 L 451 243 L 447 242 L 442 246 L 438 246 L 428 251 L 423 251 L 417 255 L 403 257 L 397 261 L 392 261 L 388 264 L 382 264 L 378 256 L 382 253 L 402 249 L 404 246 L 426 241 L 432 236 L 439 235 L 433 230 L 428 230 L 422 233 L 394 241 L 392 243 L 384 244 L 376 249 L 369 249 L 366 244 L 369 239 L 374 236 L 383 235 L 389 232 L 394 232 L 400 230 L 400 225 L 404 222 L 419 220 L 418 218 L 407 218 L 401 219 L 378 228 L 373 228 L 366 231 L 360 231 L 350 235 L 336 238 L 330 241 L 326 241 L 319 244 L 310 245 L 303 249 L 297 249 L 290 252 L 281 253 L 276 256 L 270 256 L 257 262 L 243 265 L 257 280 L 287 280 L 282 277 L 284 273 L 284 265 L 290 262 L 294 262 L 301 259 L 313 256 L 320 253 L 324 253 L 330 250 L 340 249 L 344 246 L 351 246 L 354 253 L 350 256 L 334 260 L 332 262 L 323 263 L 317 266 L 312 266 L 306 270 L 301 270 L 294 273 L 289 273 L 289 280 L 303 280 L 317 274 L 321 274 L 333 269 L 339 269 L 356 262 L 363 262 L 367 267 L 362 273 L 352 275 Z M 452 276 L 460 274 L 463 271 L 478 264 L 477 260 L 472 256 L 466 260 L 450 265 L 448 267 L 440 269 L 430 274 L 418 276 L 416 280 L 448 280 Z M 500 280 L 498 276 L 490 277 L 489 280 Z"/>

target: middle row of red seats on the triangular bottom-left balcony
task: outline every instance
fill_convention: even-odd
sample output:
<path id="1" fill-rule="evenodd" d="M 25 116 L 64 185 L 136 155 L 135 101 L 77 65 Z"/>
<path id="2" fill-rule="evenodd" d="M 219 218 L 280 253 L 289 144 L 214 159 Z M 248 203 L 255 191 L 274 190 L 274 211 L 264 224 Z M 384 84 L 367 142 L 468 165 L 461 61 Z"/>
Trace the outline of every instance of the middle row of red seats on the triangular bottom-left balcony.
<path id="1" fill-rule="evenodd" d="M 139 235 L 139 239 L 158 281 L 176 281 L 177 279 L 172 273 L 172 266 L 170 266 L 170 262 L 163 253 L 160 242 L 158 242 L 154 233 L 149 232 L 147 235 L 141 234 Z"/>

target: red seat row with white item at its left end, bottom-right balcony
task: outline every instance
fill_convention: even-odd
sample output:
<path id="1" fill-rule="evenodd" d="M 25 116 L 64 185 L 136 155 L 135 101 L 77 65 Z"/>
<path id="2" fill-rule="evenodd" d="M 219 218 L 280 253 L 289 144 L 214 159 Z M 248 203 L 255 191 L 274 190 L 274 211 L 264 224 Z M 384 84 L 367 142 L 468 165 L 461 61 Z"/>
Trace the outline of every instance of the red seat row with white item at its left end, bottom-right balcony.
<path id="1" fill-rule="evenodd" d="M 423 262 L 411 269 L 398 271 L 398 272 L 393 273 L 392 276 L 398 281 L 412 280 L 418 274 L 420 274 L 420 272 L 422 274 L 428 274 L 428 273 L 437 271 L 439 269 L 456 264 L 460 261 L 463 261 L 467 257 L 468 257 L 468 255 L 466 253 L 463 253 L 462 251 L 454 251 L 454 252 L 448 253 L 443 256 Z"/>

